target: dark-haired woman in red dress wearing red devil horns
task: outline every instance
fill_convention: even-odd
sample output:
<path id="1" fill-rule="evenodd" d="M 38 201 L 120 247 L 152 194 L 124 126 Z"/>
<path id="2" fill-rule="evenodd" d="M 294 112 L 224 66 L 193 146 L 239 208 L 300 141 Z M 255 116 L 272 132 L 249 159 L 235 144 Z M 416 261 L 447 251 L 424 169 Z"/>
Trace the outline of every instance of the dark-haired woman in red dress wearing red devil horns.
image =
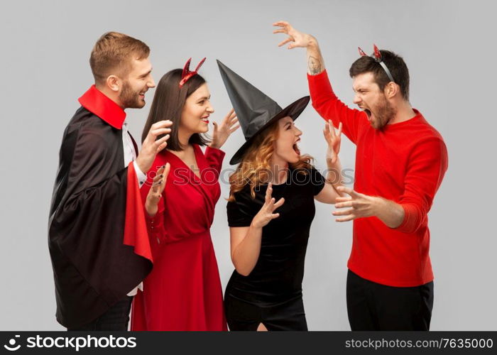
<path id="1" fill-rule="evenodd" d="M 214 109 L 198 66 L 190 72 L 189 62 L 160 79 L 143 131 L 173 121 L 167 149 L 157 155 L 141 187 L 153 270 L 134 297 L 131 330 L 226 330 L 209 229 L 221 194 L 219 148 L 239 126 L 231 110 L 221 124 L 214 123 L 212 141 L 202 136 Z M 205 153 L 200 146 L 207 146 Z"/>

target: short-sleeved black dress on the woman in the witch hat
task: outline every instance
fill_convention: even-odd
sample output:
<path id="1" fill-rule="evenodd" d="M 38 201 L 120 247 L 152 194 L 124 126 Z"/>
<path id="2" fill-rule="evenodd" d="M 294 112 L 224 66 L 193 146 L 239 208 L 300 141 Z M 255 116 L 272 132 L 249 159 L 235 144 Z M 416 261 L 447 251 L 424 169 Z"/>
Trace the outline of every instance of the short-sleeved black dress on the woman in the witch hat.
<path id="1" fill-rule="evenodd" d="M 267 185 L 256 187 L 256 198 L 250 187 L 235 194 L 228 202 L 228 224 L 250 226 L 264 203 Z M 307 330 L 302 303 L 302 278 L 305 251 L 312 219 L 314 197 L 324 187 L 323 176 L 311 168 L 290 170 L 287 181 L 273 185 L 273 197 L 285 203 L 275 212 L 280 217 L 263 227 L 261 253 L 256 266 L 247 276 L 236 270 L 224 295 L 226 319 L 230 330 L 256 330 L 263 323 L 268 330 Z"/>

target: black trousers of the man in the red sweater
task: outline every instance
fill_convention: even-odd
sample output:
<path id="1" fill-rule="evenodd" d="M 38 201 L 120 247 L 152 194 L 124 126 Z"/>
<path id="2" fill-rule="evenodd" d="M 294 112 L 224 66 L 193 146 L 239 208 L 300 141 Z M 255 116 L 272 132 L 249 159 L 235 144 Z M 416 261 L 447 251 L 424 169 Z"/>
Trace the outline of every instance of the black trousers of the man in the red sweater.
<path id="1" fill-rule="evenodd" d="M 349 270 L 346 299 L 352 330 L 430 330 L 433 281 L 415 287 L 391 287 Z"/>

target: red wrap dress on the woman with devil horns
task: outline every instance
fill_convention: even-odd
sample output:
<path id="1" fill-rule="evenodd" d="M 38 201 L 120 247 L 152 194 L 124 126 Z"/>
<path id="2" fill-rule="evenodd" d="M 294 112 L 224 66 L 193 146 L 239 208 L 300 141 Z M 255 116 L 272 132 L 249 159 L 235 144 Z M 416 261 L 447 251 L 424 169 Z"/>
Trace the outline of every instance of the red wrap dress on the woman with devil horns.
<path id="1" fill-rule="evenodd" d="M 200 178 L 173 153 L 157 155 L 141 187 L 143 202 L 155 171 L 170 163 L 158 212 L 148 219 L 153 270 L 133 300 L 131 330 L 227 330 L 221 281 L 209 232 L 221 195 L 224 152 L 193 145 Z M 147 215 L 148 216 L 148 215 Z"/>

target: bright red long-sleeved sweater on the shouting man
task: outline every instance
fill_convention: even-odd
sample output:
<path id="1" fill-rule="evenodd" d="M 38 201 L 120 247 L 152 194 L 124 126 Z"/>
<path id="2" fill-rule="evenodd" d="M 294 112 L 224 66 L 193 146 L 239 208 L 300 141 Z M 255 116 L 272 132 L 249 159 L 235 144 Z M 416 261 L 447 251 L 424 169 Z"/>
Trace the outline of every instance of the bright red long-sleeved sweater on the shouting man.
<path id="1" fill-rule="evenodd" d="M 410 287 L 433 280 L 427 213 L 447 170 L 442 136 L 419 111 L 408 121 L 373 129 L 363 111 L 334 94 L 327 72 L 307 75 L 312 106 L 356 144 L 354 190 L 400 204 L 404 221 L 391 229 L 376 217 L 354 220 L 348 268 L 383 285 Z"/>

